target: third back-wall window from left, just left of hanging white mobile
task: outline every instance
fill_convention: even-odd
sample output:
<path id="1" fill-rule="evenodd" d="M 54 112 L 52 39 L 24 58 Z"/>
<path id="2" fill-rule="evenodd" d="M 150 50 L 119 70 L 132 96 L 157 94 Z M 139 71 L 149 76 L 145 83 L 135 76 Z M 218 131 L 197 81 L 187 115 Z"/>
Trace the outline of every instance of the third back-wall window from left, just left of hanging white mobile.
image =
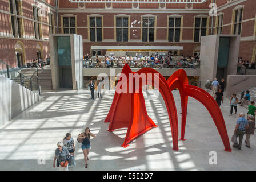
<path id="1" fill-rule="evenodd" d="M 127 17 L 117 17 L 115 18 L 116 23 L 116 40 L 117 42 L 127 42 L 128 41 L 128 18 Z"/>

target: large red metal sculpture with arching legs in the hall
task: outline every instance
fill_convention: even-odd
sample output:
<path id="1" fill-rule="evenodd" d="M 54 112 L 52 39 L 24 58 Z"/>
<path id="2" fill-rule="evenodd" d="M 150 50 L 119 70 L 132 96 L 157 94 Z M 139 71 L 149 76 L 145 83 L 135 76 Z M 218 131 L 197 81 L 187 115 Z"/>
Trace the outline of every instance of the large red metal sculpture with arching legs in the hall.
<path id="1" fill-rule="evenodd" d="M 117 87 L 115 90 L 114 99 L 105 122 L 110 122 L 109 131 L 114 131 L 115 129 L 124 127 L 128 128 L 122 147 L 127 147 L 128 143 L 133 141 L 135 138 L 146 133 L 146 131 L 157 127 L 157 125 L 155 125 L 152 119 L 147 115 L 145 100 L 142 93 L 142 86 L 153 85 L 158 88 L 163 100 L 165 101 L 173 138 L 173 150 L 178 150 L 178 117 L 171 91 L 178 88 L 182 106 L 180 139 L 185 140 L 184 135 L 187 117 L 187 101 L 190 96 L 201 102 L 209 111 L 218 132 L 221 135 L 225 151 L 231 152 L 225 121 L 217 102 L 205 90 L 198 88 L 197 86 L 189 85 L 186 72 L 183 69 L 178 69 L 167 81 L 159 72 L 152 68 L 142 68 L 137 72 L 132 72 L 130 67 L 125 64 L 122 73 L 126 75 L 127 78 L 129 78 L 129 75 L 144 75 L 147 80 L 147 82 L 143 82 L 139 79 L 139 87 L 136 88 L 136 86 L 134 86 L 133 77 L 130 79 L 130 81 L 133 81 L 133 85 L 129 85 L 129 80 L 125 80 L 122 84 L 122 88 Z M 154 78 L 152 78 L 152 75 L 154 75 Z M 156 81 L 158 81 L 157 84 L 155 84 Z M 132 89 L 133 92 L 129 93 L 129 89 Z M 126 90 L 126 92 L 120 92 L 123 90 Z"/>

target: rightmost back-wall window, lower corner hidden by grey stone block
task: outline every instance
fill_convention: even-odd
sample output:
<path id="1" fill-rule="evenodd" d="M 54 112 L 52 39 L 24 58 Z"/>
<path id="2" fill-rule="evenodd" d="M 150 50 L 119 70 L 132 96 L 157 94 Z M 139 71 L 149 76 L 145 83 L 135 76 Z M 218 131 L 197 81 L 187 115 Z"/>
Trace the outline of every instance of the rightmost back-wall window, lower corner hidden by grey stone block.
<path id="1" fill-rule="evenodd" d="M 195 18 L 194 42 L 200 42 L 201 37 L 206 35 L 207 18 Z"/>

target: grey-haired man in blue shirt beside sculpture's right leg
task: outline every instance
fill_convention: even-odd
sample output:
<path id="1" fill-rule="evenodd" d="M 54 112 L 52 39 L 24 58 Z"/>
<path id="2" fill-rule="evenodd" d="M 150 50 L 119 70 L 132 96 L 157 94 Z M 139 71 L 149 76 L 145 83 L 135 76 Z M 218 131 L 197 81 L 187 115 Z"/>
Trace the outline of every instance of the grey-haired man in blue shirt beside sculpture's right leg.
<path id="1" fill-rule="evenodd" d="M 235 138 L 239 138 L 239 144 L 234 143 L 233 147 L 238 148 L 241 150 L 243 135 L 245 135 L 245 130 L 249 128 L 249 124 L 247 119 L 245 119 L 245 114 L 240 113 L 239 118 L 237 119 L 237 125 L 235 125 Z"/>

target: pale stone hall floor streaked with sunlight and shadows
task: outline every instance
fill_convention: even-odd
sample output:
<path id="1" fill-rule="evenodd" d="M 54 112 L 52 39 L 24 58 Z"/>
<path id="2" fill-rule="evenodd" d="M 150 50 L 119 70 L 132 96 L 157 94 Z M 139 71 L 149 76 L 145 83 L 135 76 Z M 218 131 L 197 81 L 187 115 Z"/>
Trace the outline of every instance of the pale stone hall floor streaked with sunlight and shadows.
<path id="1" fill-rule="evenodd" d="M 173 91 L 181 127 L 179 92 Z M 73 170 L 255 170 L 256 139 L 251 148 L 224 151 L 210 114 L 205 107 L 189 98 L 185 142 L 179 141 L 179 151 L 173 151 L 171 129 L 161 95 L 145 92 L 147 112 L 158 125 L 135 139 L 127 148 L 120 147 L 127 129 L 106 131 L 104 119 L 114 93 L 104 93 L 102 99 L 91 100 L 87 90 L 61 90 L 43 93 L 43 100 L 0 127 L 0 170 L 58 170 L 53 168 L 57 142 L 67 132 L 76 140 L 85 127 L 97 137 L 91 139 L 89 168 L 84 168 L 81 144 L 75 142 L 77 166 Z M 229 138 L 234 132 L 238 115 L 229 116 L 229 100 L 221 106 Z M 238 113 L 247 110 L 238 107 Z M 217 152 L 217 164 L 209 164 L 210 151 Z M 44 161 L 44 162 L 42 162 Z"/>

